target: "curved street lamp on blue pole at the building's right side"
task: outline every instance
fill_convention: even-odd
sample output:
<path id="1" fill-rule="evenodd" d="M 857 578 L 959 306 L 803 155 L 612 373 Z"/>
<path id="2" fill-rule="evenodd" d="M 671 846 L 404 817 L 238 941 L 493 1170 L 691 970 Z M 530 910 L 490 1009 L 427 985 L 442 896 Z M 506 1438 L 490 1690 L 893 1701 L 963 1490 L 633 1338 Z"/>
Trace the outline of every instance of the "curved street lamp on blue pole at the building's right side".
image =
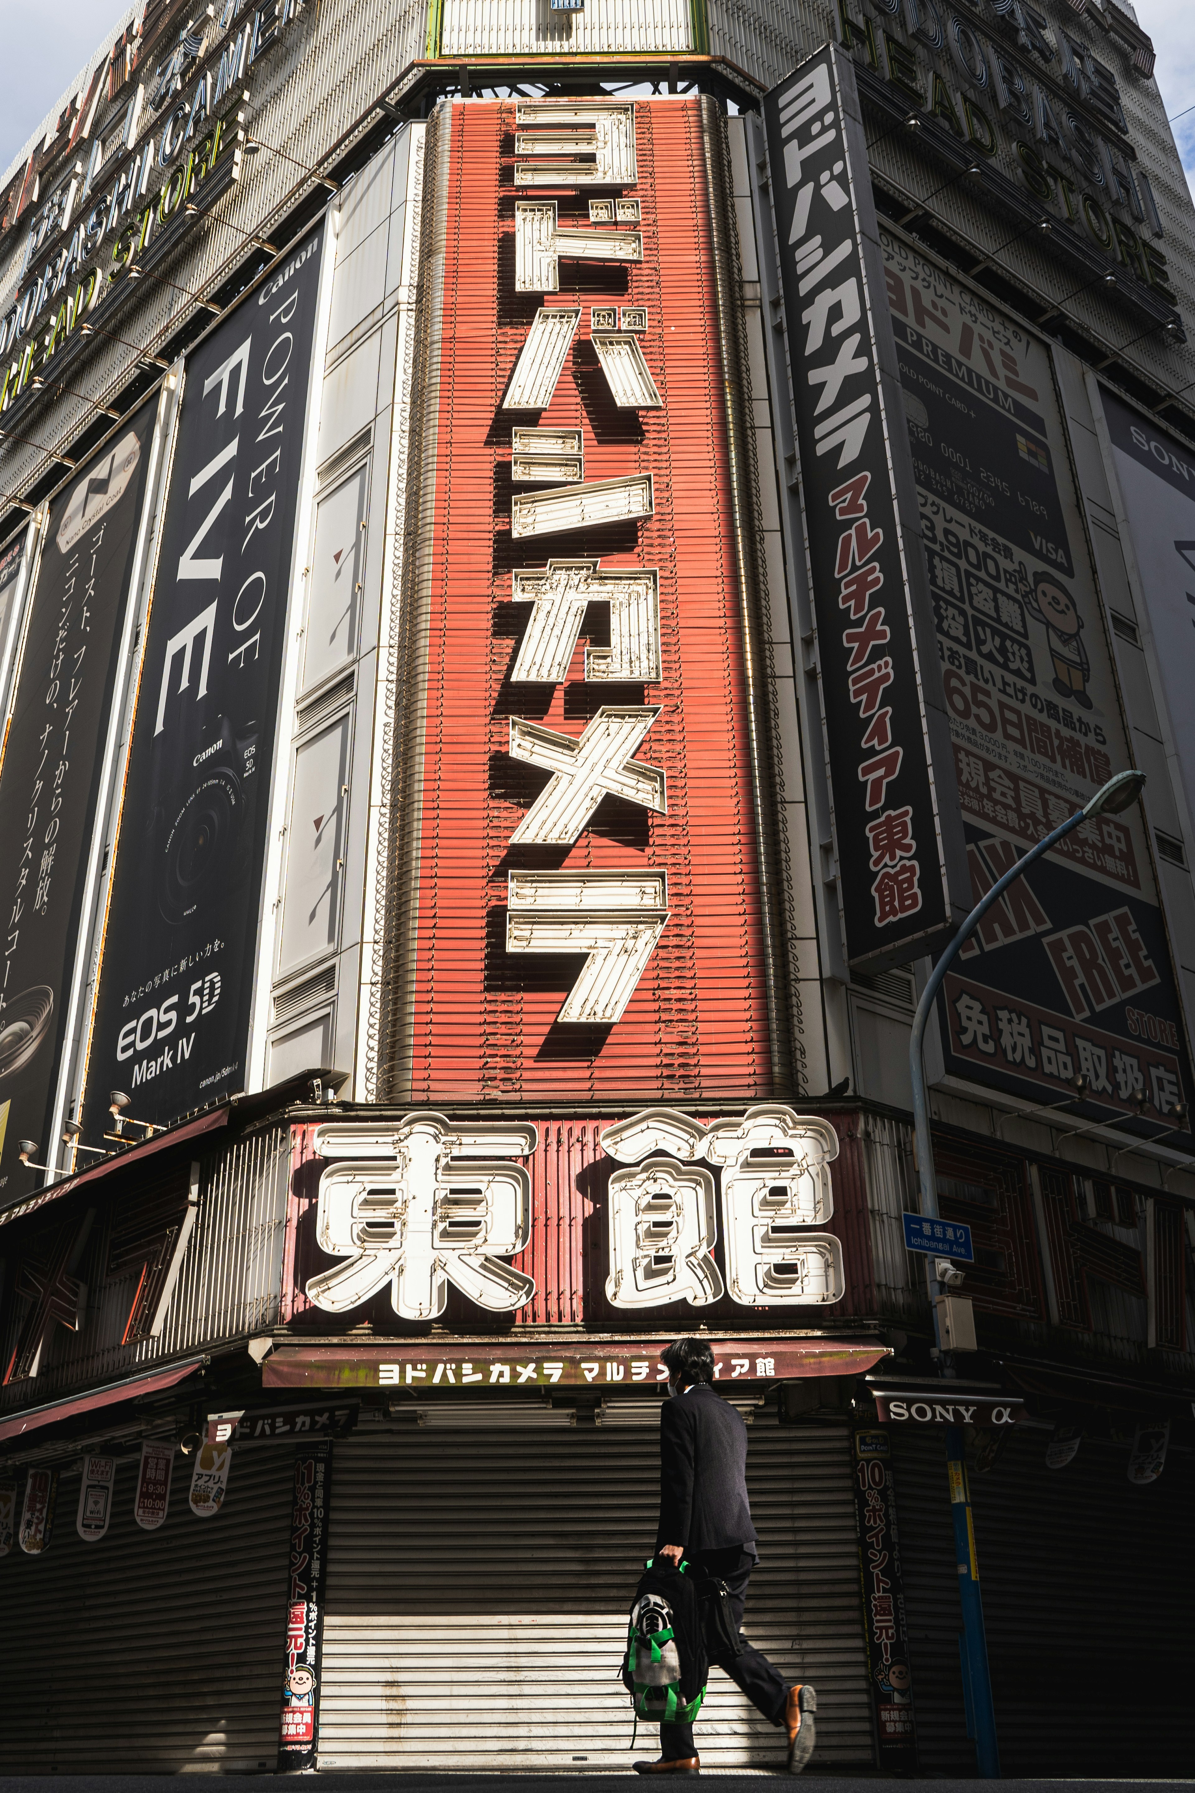
<path id="1" fill-rule="evenodd" d="M 987 895 L 975 905 L 971 914 L 966 918 L 950 947 L 937 961 L 930 972 L 930 981 L 924 986 L 921 1002 L 917 1004 L 917 1013 L 914 1017 L 914 1031 L 908 1042 L 908 1072 L 914 1088 L 914 1149 L 917 1156 L 917 1180 L 921 1185 L 921 1214 L 926 1219 L 937 1219 L 937 1176 L 933 1173 L 933 1140 L 930 1137 L 930 1103 L 924 1088 L 924 1065 L 923 1065 L 923 1045 L 924 1045 L 924 1026 L 930 1018 L 930 1009 L 933 1008 L 933 999 L 942 984 L 942 979 L 955 961 L 959 948 L 973 932 L 973 929 L 982 922 L 991 905 L 1007 891 L 1014 879 L 1032 866 L 1034 859 L 1041 859 L 1048 853 L 1052 846 L 1077 828 L 1080 821 L 1091 821 L 1093 816 L 1118 816 L 1122 810 L 1129 809 L 1131 803 L 1141 796 L 1145 787 L 1145 773 L 1116 773 L 1102 785 L 1089 803 L 1077 809 L 1053 834 L 1046 834 L 1045 839 L 1037 841 L 1036 846 L 1018 859 L 1010 871 L 993 884 Z M 937 1307 L 937 1298 L 941 1295 L 939 1264 L 930 1253 L 926 1257 L 926 1280 L 930 1284 L 930 1309 L 933 1312 L 933 1338 L 939 1347 L 939 1368 L 944 1375 L 953 1375 L 953 1368 L 942 1361 L 942 1338 L 941 1338 L 941 1311 Z M 984 1603 L 980 1599 L 980 1578 L 978 1563 L 975 1556 L 975 1528 L 971 1520 L 971 1492 L 967 1486 L 967 1467 L 964 1461 L 962 1449 L 962 1427 L 950 1425 L 946 1429 L 946 1476 L 950 1483 L 950 1513 L 955 1529 L 955 1567 L 959 1571 L 959 1599 L 962 1605 L 962 1671 L 967 1682 L 967 1716 L 971 1719 L 969 1730 L 975 1736 L 975 1757 L 978 1771 L 984 1779 L 1000 1777 L 1000 1750 L 996 1743 L 996 1714 L 993 1711 L 993 1691 L 991 1675 L 987 1667 L 987 1637 L 984 1633 Z"/>

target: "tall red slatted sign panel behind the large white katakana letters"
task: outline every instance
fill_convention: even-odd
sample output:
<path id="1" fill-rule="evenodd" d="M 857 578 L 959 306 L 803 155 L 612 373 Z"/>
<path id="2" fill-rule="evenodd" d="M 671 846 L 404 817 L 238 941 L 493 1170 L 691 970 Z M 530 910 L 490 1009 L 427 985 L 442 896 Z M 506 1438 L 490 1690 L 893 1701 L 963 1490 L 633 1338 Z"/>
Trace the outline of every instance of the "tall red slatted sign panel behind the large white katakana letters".
<path id="1" fill-rule="evenodd" d="M 434 534 L 408 660 L 426 690 L 400 1083 L 421 1103 L 760 1099 L 772 1063 L 701 102 L 636 104 L 638 179 L 597 188 L 611 215 L 623 195 L 620 219 L 638 203 L 641 260 L 561 255 L 546 294 L 516 292 L 516 204 L 555 203 L 561 230 L 600 230 L 595 188 L 516 186 L 514 102 L 455 104 L 450 129 Z M 570 307 L 550 402 L 503 409 L 537 314 Z M 609 325 L 632 330 L 659 405 L 615 403 L 593 341 Z M 584 488 L 650 473 L 652 515 L 514 540 L 512 502 L 541 489 L 512 482 L 516 425 L 579 432 Z M 589 604 L 566 676 L 512 680 L 530 608 L 516 574 L 550 561 L 656 570 L 659 678 L 586 681 L 586 649 L 609 640 L 607 606 Z M 512 845 L 546 782 L 512 755 L 512 723 L 577 741 L 609 706 L 658 710 L 634 771 L 663 773 L 666 807 L 606 794 L 572 843 Z M 663 873 L 666 922 L 616 1020 L 561 1020 L 584 954 L 509 950 L 509 875 L 606 870 Z"/>

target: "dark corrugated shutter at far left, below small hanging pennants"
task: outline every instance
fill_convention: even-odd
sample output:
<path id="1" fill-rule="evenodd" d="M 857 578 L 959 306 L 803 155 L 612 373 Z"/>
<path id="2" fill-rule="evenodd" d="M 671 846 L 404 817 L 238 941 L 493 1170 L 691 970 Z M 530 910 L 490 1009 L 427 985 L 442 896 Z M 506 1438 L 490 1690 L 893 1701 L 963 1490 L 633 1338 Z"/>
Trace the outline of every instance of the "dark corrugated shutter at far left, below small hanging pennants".
<path id="1" fill-rule="evenodd" d="M 104 1538 L 75 1531 L 63 1476 L 45 1556 L 0 1560 L 5 1773 L 274 1766 L 294 1452 L 235 1452 L 213 1519 L 176 1456 L 158 1531 L 133 1519 L 136 1468 L 118 1463 Z"/>

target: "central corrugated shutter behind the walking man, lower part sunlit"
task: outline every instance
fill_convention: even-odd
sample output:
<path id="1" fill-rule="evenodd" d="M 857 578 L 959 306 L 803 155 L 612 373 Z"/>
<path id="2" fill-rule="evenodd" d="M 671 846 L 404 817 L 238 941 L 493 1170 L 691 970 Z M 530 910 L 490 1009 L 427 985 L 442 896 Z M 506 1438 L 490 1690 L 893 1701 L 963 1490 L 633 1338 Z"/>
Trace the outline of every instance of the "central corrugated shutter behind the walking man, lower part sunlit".
<path id="1" fill-rule="evenodd" d="M 849 1436 L 760 1422 L 747 1481 L 763 1558 L 747 1635 L 817 1687 L 815 1764 L 869 1764 Z M 658 1499 L 656 1427 L 339 1443 L 319 1766 L 627 1768 L 618 1666 Z M 699 1748 L 709 1766 L 783 1764 L 781 1734 L 718 1669 Z"/>

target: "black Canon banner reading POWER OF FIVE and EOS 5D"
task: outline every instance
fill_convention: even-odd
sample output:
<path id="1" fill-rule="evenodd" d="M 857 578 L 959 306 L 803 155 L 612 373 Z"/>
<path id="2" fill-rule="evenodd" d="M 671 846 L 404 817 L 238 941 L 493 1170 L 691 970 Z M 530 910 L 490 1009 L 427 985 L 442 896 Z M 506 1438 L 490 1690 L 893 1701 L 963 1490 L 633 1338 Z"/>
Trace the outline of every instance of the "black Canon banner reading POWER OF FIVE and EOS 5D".
<path id="1" fill-rule="evenodd" d="M 188 359 L 91 1031 L 168 1122 L 244 1088 L 321 233 Z"/>

